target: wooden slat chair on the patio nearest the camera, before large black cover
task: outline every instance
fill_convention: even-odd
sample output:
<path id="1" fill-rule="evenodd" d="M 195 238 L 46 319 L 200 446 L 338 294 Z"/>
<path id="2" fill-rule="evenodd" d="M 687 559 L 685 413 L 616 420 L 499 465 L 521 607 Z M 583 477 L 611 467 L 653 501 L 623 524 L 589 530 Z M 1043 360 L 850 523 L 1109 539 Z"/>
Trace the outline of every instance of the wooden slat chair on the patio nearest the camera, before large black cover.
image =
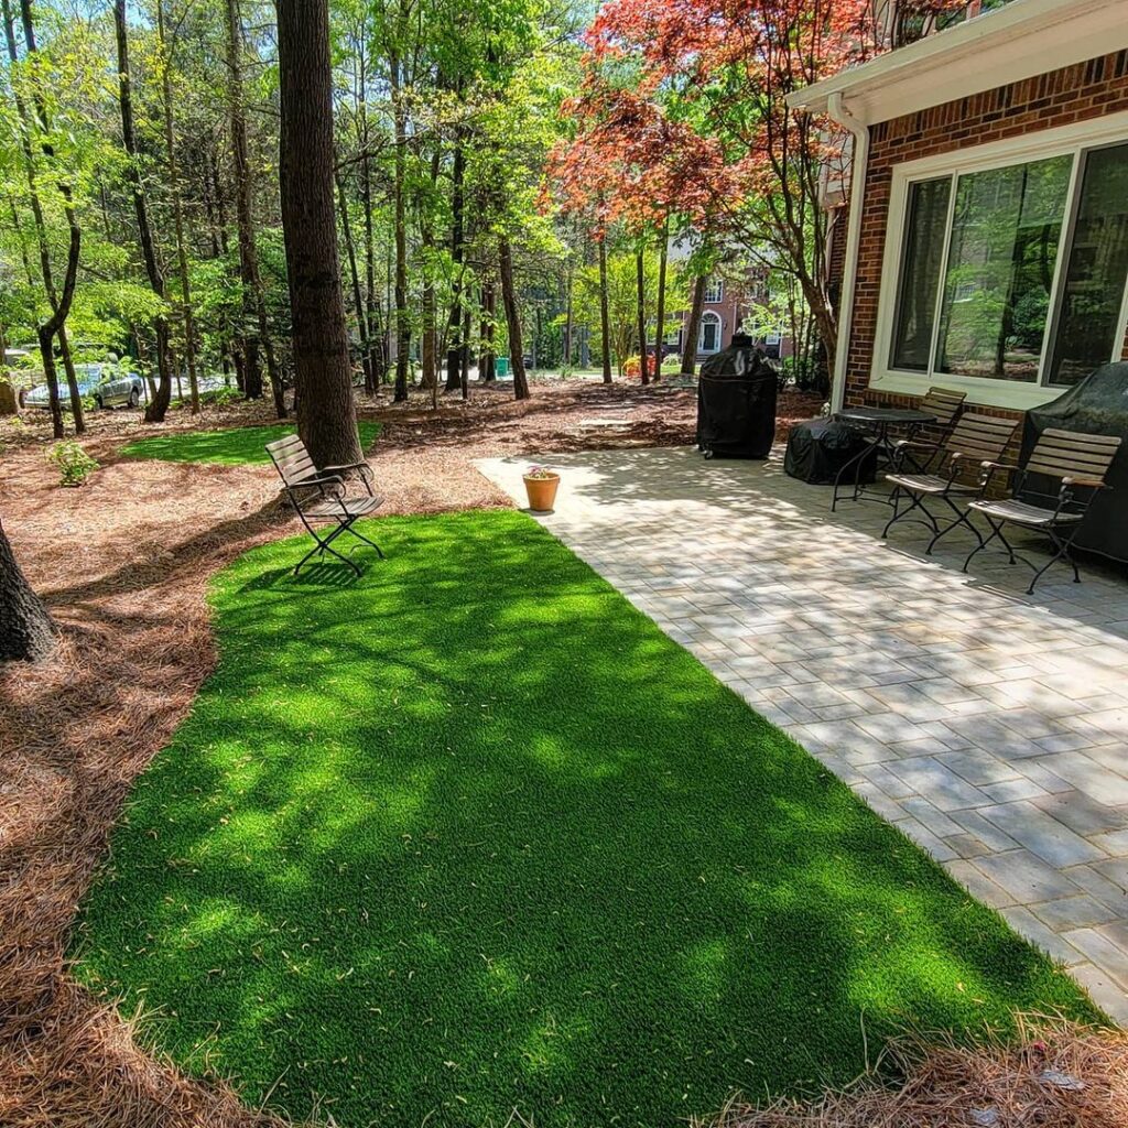
<path id="1" fill-rule="evenodd" d="M 1006 501 L 979 497 L 968 506 L 970 511 L 984 517 L 990 526 L 990 535 L 981 538 L 978 547 L 972 549 L 963 562 L 963 571 L 967 572 L 968 565 L 978 553 L 997 539 L 1012 564 L 1021 559 L 1034 570 L 1026 594 L 1033 594 L 1034 584 L 1059 559 L 1072 565 L 1073 582 L 1081 583 L 1077 562 L 1073 558 L 1069 546 L 1081 528 L 1093 497 L 1101 490 L 1108 488 L 1104 476 L 1120 449 L 1121 441 L 1118 435 L 1079 434 L 1075 431 L 1058 431 L 1051 428 L 1041 433 L 1025 466 L 989 465 L 984 488 L 990 485 L 995 473 L 1005 473 L 1013 476 L 1013 496 Z M 1031 475 L 1058 482 L 1057 493 L 1045 493 L 1036 488 L 1037 483 L 1032 484 L 1029 481 Z M 1046 504 L 1026 501 L 1024 500 L 1026 497 L 1042 500 Z M 1007 523 L 1034 529 L 1049 537 L 1054 552 L 1041 567 L 1015 553 L 1003 534 L 1003 527 Z"/>

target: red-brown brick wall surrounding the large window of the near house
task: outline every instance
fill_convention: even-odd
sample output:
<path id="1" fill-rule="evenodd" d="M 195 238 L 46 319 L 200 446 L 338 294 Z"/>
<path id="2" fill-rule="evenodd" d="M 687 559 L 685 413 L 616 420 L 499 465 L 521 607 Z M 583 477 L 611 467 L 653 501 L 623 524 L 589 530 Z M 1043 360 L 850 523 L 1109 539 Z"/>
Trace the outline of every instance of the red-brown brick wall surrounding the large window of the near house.
<path id="1" fill-rule="evenodd" d="M 869 387 L 893 166 L 1123 111 L 1128 111 L 1128 51 L 895 117 L 871 129 L 846 368 L 847 404 L 907 406 L 914 402 L 911 397 L 889 396 Z M 1128 360 L 1128 341 L 1125 359 Z M 979 405 L 976 409 L 1010 417 L 1020 414 Z"/>

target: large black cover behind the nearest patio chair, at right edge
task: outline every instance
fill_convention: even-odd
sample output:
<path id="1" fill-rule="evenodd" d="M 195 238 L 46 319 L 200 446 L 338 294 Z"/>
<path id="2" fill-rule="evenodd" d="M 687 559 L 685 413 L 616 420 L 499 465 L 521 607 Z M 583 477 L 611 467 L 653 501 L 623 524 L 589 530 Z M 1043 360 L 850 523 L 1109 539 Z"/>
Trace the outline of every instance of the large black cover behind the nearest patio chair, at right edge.
<path id="1" fill-rule="evenodd" d="M 1074 544 L 1113 559 L 1128 561 L 1128 363 L 1104 364 L 1051 404 L 1028 412 L 1022 434 L 1023 462 L 1034 449 L 1038 437 L 1048 428 L 1123 437 L 1125 446 L 1117 452 L 1105 477 L 1112 488 L 1096 495 Z M 1031 475 L 1029 486 L 1029 500 L 1045 504 L 1045 494 L 1057 493 L 1059 483 L 1039 481 Z"/>

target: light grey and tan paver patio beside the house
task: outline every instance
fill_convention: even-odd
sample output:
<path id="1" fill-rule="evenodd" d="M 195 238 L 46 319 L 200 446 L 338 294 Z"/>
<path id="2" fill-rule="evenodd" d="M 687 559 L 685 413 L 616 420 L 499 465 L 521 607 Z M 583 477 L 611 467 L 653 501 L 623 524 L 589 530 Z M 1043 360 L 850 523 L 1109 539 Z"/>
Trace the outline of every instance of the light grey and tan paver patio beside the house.
<path id="1" fill-rule="evenodd" d="M 523 505 L 527 461 L 482 470 Z M 545 526 L 1128 1022 L 1128 578 L 960 571 L 688 448 L 554 456 Z"/>

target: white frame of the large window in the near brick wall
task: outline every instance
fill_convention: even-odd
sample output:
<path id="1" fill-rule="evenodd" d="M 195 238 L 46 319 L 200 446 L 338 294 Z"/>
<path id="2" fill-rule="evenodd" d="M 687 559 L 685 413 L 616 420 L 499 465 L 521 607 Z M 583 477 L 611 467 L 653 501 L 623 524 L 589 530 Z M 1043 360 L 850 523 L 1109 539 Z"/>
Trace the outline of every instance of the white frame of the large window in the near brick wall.
<path id="1" fill-rule="evenodd" d="M 878 298 L 878 323 L 873 341 L 873 361 L 870 368 L 870 387 L 908 395 L 922 395 L 931 387 L 950 388 L 966 391 L 968 397 L 977 404 L 1019 409 L 1037 407 L 1039 404 L 1057 399 L 1066 390 L 1064 386 L 1041 382 L 1023 384 L 988 377 L 955 376 L 948 372 L 929 374 L 928 372 L 909 372 L 891 367 L 893 324 L 897 317 L 901 259 L 908 223 L 909 191 L 911 185 L 918 180 L 934 179 L 944 175 L 952 176 L 949 218 L 945 224 L 945 233 L 950 237 L 952 209 L 955 206 L 957 178 L 960 174 L 1006 168 L 1010 165 L 1041 160 L 1048 157 L 1073 157 L 1066 212 L 1063 217 L 1061 235 L 1054 268 L 1054 287 L 1050 291 L 1050 310 L 1042 341 L 1045 360 L 1049 343 L 1047 338 L 1055 323 L 1061 272 L 1068 257 L 1067 240 L 1073 230 L 1072 209 L 1078 191 L 1077 170 L 1081 167 L 1078 158 L 1085 149 L 1117 143 L 1128 143 L 1128 113 L 1108 114 L 1087 122 L 1077 122 L 1054 130 L 1040 130 L 1005 141 L 957 149 L 938 153 L 935 157 L 925 157 L 920 160 L 906 161 L 895 166 L 890 185 L 889 215 L 885 221 L 885 246 L 881 270 L 883 282 Z M 948 252 L 949 246 L 945 243 L 940 270 L 938 294 L 943 293 L 944 277 L 948 273 Z M 1112 355 L 1109 360 L 1118 361 L 1122 358 L 1126 334 L 1128 334 L 1128 280 L 1126 280 L 1125 293 L 1120 303 L 1120 321 L 1112 344 Z M 929 355 L 929 365 L 934 363 L 935 355 L 933 354 Z M 1041 373 L 1039 373 L 1039 379 L 1041 379 Z"/>

